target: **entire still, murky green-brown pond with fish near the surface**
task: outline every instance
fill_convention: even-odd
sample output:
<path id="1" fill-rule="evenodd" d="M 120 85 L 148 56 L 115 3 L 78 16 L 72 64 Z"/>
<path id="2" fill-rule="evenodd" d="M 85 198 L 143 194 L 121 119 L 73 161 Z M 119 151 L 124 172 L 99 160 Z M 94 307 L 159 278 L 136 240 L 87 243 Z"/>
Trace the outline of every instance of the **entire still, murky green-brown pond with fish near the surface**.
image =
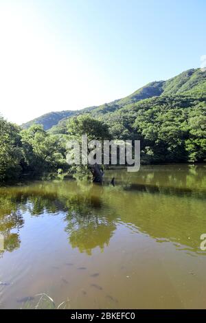
<path id="1" fill-rule="evenodd" d="M 205 165 L 0 188 L 0 308 L 206 308 L 205 197 Z"/>

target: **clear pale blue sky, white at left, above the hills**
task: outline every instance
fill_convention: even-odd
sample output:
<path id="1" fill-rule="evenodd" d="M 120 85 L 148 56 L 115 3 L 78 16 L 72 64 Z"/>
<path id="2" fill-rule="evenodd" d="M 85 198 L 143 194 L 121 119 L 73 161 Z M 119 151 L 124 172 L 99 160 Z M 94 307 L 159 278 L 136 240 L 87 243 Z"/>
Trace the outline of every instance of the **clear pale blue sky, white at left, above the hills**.
<path id="1" fill-rule="evenodd" d="M 200 67 L 205 0 L 0 0 L 0 111 L 21 123 Z"/>

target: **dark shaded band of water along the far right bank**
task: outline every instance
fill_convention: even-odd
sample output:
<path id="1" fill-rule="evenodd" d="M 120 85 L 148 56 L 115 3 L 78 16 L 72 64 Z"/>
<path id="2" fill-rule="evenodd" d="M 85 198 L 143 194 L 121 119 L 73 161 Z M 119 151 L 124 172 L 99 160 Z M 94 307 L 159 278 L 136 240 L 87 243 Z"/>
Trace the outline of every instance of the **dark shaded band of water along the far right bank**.
<path id="1" fill-rule="evenodd" d="M 113 172 L 115 182 L 124 190 L 172 194 L 205 199 L 206 166 L 145 166 L 139 172 Z M 108 175 L 107 175 L 108 179 Z"/>

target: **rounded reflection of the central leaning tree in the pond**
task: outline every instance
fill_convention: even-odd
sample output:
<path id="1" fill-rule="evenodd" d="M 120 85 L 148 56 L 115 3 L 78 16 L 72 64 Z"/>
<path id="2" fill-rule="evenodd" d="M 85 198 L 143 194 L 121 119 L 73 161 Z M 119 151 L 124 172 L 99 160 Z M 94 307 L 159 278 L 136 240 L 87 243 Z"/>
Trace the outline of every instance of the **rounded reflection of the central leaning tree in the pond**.
<path id="1" fill-rule="evenodd" d="M 69 210 L 65 217 L 66 232 L 73 248 L 78 247 L 80 252 L 91 255 L 92 249 L 108 245 L 115 231 L 116 217 L 105 216 L 102 200 L 92 194 L 76 196 L 69 199 Z"/>

